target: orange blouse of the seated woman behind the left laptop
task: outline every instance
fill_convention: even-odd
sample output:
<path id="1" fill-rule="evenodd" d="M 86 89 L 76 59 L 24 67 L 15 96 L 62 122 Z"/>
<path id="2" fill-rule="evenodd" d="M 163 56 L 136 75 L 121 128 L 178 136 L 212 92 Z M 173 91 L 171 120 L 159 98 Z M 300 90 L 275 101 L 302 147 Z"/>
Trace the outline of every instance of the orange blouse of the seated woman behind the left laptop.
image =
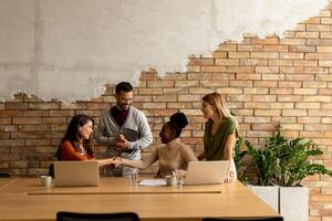
<path id="1" fill-rule="evenodd" d="M 70 140 L 65 140 L 61 144 L 60 160 L 85 160 L 92 158 L 93 157 L 87 151 L 85 151 L 84 155 L 81 155 L 79 151 L 76 151 Z"/>

